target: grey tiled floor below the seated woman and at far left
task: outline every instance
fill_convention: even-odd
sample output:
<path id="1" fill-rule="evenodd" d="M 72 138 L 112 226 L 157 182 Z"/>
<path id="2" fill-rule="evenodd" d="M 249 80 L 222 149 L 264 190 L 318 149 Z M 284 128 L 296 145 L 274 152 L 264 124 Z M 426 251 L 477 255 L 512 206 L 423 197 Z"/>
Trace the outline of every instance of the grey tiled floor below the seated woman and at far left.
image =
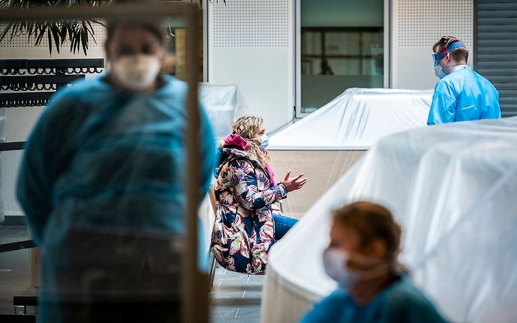
<path id="1" fill-rule="evenodd" d="M 0 243 L 27 239 L 24 226 L 0 225 Z M 246 275 L 216 269 L 211 295 L 211 321 L 258 322 L 264 276 Z M 34 296 L 31 286 L 31 252 L 26 250 L 0 253 L 0 314 L 14 314 L 12 297 Z M 36 314 L 36 307 L 27 307 L 27 314 Z"/>

